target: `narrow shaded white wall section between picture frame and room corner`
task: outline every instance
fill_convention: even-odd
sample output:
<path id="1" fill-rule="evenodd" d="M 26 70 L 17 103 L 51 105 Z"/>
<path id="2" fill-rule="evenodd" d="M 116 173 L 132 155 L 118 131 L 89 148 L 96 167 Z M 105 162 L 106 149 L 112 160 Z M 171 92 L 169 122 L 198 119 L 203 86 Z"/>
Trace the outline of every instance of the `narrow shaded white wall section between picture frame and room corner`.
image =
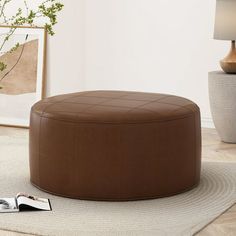
<path id="1" fill-rule="evenodd" d="M 48 37 L 47 96 L 85 89 L 85 1 L 60 0 L 65 7 Z"/>

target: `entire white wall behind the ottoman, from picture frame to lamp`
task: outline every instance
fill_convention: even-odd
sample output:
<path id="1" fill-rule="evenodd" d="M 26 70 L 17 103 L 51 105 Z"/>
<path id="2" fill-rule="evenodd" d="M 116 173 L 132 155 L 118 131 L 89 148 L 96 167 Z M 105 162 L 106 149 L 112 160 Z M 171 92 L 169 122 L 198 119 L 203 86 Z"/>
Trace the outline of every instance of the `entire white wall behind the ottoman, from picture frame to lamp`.
<path id="1" fill-rule="evenodd" d="M 49 40 L 47 94 L 92 89 L 170 93 L 211 114 L 207 73 L 228 42 L 212 39 L 215 0 L 64 0 Z"/>

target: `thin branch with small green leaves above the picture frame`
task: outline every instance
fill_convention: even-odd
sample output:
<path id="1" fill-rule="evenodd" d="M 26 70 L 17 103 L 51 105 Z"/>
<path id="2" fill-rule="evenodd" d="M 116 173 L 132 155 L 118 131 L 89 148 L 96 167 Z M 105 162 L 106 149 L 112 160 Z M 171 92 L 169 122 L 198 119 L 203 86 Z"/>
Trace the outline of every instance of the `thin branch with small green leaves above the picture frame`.
<path id="1" fill-rule="evenodd" d="M 57 0 L 42 0 L 36 9 L 31 9 L 28 0 L 23 1 L 23 7 L 18 8 L 14 14 L 7 16 L 7 8 L 11 4 L 19 3 L 18 0 L 0 0 L 0 24 L 9 26 L 10 29 L 6 36 L 0 43 L 0 53 L 3 53 L 3 48 L 7 41 L 12 37 L 18 26 L 37 26 L 37 21 L 40 19 L 44 22 L 44 27 L 49 35 L 55 34 L 53 27 L 57 24 L 57 14 L 60 12 L 64 5 Z M 14 45 L 8 52 L 12 53 L 19 48 L 20 44 Z M 6 52 L 4 52 L 6 53 Z M 0 71 L 4 71 L 7 65 L 0 61 Z"/>

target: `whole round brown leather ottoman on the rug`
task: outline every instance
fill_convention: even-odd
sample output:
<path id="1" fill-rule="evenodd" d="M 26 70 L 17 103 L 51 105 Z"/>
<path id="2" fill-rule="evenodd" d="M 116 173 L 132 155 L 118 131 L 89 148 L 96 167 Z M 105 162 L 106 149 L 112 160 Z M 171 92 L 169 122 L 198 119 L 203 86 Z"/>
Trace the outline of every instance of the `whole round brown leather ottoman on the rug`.
<path id="1" fill-rule="evenodd" d="M 138 200 L 199 183 L 199 108 L 170 95 L 92 91 L 36 103 L 30 120 L 30 175 L 65 197 Z"/>

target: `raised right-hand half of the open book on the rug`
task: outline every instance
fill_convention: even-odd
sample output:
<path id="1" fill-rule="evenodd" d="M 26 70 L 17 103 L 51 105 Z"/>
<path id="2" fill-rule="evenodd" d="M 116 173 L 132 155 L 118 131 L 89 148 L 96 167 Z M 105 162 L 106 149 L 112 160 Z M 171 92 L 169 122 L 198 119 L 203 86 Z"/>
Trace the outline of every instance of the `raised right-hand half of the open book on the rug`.
<path id="1" fill-rule="evenodd" d="M 19 209 L 27 209 L 29 207 L 36 208 L 39 210 L 45 210 L 45 211 L 51 211 L 51 205 L 49 202 L 49 199 L 46 198 L 38 198 L 35 196 L 30 196 L 27 194 L 17 194 L 17 203 L 19 206 Z M 29 206 L 29 207 L 27 207 Z"/>

